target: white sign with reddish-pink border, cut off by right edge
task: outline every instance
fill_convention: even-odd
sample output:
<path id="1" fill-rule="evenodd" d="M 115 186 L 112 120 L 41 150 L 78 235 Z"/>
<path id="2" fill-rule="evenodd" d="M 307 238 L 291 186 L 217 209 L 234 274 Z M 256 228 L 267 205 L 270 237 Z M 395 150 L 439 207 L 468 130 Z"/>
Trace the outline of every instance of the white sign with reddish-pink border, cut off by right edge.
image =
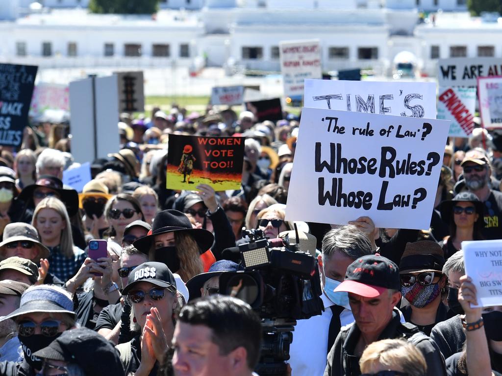
<path id="1" fill-rule="evenodd" d="M 502 77 L 480 77 L 477 93 L 483 127 L 502 127 Z"/>

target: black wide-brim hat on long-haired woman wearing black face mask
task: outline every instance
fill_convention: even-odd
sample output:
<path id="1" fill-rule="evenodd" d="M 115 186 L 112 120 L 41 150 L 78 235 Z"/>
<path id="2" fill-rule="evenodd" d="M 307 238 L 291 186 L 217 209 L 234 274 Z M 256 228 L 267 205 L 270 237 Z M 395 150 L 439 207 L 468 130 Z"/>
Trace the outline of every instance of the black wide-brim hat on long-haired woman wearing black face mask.
<path id="1" fill-rule="evenodd" d="M 187 216 L 177 210 L 169 209 L 157 213 L 153 221 L 152 233 L 136 240 L 133 245 L 148 255 L 155 236 L 171 232 L 183 232 L 190 235 L 199 246 L 200 254 L 211 248 L 214 242 L 212 233 L 204 229 L 194 229 Z"/>

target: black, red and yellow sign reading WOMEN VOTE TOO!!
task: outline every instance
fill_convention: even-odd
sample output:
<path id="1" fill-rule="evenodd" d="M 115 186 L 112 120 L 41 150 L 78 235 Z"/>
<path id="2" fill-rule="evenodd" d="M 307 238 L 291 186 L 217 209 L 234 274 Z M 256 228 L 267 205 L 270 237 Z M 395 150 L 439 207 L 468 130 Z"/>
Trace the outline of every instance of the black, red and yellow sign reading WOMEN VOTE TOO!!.
<path id="1" fill-rule="evenodd" d="M 169 135 L 166 187 L 193 190 L 197 184 L 215 191 L 240 189 L 244 137 Z"/>

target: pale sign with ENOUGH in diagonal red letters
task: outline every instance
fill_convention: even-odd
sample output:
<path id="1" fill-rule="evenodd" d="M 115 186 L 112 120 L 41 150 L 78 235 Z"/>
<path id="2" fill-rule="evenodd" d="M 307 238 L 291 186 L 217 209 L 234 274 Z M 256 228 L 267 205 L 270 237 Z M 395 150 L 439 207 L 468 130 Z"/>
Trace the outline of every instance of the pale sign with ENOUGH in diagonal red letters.
<path id="1" fill-rule="evenodd" d="M 451 137 L 469 137 L 474 129 L 476 88 L 439 88 L 438 119 L 450 120 Z"/>

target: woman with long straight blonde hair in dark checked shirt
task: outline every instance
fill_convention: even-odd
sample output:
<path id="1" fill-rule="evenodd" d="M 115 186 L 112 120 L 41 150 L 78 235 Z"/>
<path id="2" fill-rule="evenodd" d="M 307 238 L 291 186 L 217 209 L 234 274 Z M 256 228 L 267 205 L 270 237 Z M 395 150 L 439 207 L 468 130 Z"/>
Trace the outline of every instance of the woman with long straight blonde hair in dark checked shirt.
<path id="1" fill-rule="evenodd" d="M 35 208 L 32 225 L 49 249 L 49 272 L 66 282 L 85 260 L 85 253 L 73 245 L 70 219 L 65 205 L 55 197 L 43 199 Z"/>

